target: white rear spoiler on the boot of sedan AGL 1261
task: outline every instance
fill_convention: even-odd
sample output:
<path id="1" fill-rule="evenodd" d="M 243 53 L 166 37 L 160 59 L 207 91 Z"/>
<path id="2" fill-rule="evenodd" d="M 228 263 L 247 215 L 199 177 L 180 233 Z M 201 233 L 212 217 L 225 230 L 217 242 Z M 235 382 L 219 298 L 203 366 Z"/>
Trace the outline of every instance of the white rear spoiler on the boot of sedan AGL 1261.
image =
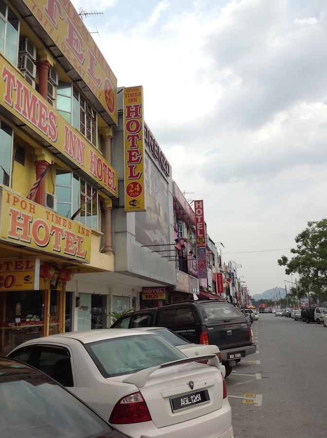
<path id="1" fill-rule="evenodd" d="M 157 366 L 151 366 L 150 368 L 141 369 L 140 371 L 137 371 L 136 373 L 130 374 L 126 379 L 123 380 L 124 383 L 132 383 L 136 385 L 138 388 L 143 388 L 145 383 L 148 381 L 149 377 L 152 373 L 157 371 L 158 369 L 166 368 L 168 366 L 174 366 L 174 365 L 183 365 L 183 364 L 189 364 L 192 362 L 199 362 L 208 360 L 207 365 L 210 366 L 216 366 L 220 370 L 220 362 L 216 354 L 209 354 L 206 356 L 199 356 L 199 357 L 189 357 L 187 359 L 179 359 L 177 361 L 172 362 L 166 362 L 162 365 Z"/>

